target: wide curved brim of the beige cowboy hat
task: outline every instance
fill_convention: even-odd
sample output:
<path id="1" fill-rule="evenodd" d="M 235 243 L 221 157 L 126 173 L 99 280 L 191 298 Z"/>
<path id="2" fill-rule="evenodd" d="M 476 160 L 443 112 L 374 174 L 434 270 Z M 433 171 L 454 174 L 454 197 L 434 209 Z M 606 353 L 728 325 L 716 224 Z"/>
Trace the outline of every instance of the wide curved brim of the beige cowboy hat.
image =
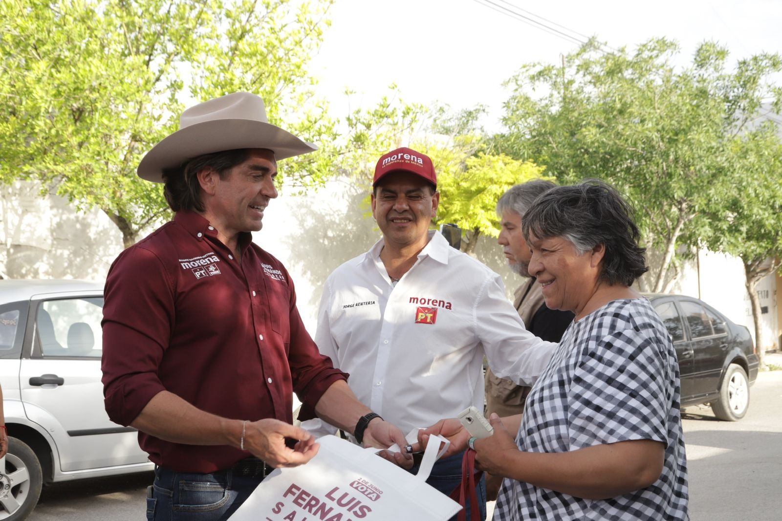
<path id="1" fill-rule="evenodd" d="M 179 167 L 203 154 L 234 149 L 268 149 L 274 152 L 274 159 L 282 160 L 314 152 L 317 146 L 262 121 L 204 121 L 182 128 L 152 147 L 138 163 L 138 177 L 162 183 L 163 169 Z"/>

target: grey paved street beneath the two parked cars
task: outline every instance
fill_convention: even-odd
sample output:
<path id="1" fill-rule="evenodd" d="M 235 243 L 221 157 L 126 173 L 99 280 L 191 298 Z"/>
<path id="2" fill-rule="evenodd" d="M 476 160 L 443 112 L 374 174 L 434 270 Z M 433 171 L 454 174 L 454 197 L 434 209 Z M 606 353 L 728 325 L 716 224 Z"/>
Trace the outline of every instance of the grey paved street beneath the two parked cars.
<path id="1" fill-rule="evenodd" d="M 719 422 L 705 407 L 684 411 L 692 521 L 780 519 L 782 371 L 761 373 L 751 396 L 750 409 L 741 422 Z M 145 472 L 46 487 L 29 519 L 144 519 L 151 476 Z"/>

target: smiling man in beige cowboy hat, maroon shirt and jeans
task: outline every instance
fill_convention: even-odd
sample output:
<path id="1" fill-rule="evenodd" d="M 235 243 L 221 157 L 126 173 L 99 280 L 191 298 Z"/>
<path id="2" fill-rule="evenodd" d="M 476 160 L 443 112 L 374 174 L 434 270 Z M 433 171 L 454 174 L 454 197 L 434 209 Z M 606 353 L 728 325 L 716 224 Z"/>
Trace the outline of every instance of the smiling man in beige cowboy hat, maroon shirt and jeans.
<path id="1" fill-rule="evenodd" d="M 269 124 L 246 92 L 185 110 L 180 127 L 138 165 L 175 215 L 109 270 L 102 382 L 109 417 L 138 429 L 157 465 L 149 519 L 228 519 L 271 468 L 317 452 L 292 426 L 293 391 L 305 417 L 366 445 L 405 442 L 318 353 L 288 271 L 252 242 L 277 196 L 276 161 L 316 147 Z"/>

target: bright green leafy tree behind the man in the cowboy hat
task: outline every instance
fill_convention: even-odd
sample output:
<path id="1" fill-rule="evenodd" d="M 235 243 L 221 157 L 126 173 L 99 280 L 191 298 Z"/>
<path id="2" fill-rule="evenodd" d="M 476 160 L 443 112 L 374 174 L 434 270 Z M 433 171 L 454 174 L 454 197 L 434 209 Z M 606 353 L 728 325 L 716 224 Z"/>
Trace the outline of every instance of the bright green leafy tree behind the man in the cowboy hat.
<path id="1" fill-rule="evenodd" d="M 100 208 L 125 246 L 168 216 L 142 155 L 192 100 L 249 91 L 269 120 L 311 142 L 334 122 L 307 61 L 332 0 L 9 0 L 0 3 L 0 181 L 39 181 L 78 209 Z M 188 78 L 187 81 L 183 78 Z M 186 103 L 185 103 L 186 102 Z M 328 154 L 283 163 L 300 185 Z"/>

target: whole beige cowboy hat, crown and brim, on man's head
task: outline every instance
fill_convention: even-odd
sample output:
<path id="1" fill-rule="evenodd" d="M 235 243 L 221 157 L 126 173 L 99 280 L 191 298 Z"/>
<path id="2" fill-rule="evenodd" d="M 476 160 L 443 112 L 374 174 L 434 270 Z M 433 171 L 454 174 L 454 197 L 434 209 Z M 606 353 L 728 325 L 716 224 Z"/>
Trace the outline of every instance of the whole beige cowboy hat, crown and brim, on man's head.
<path id="1" fill-rule="evenodd" d="M 162 183 L 164 168 L 233 149 L 268 149 L 282 160 L 313 152 L 317 146 L 270 124 L 260 96 L 234 92 L 186 109 L 179 117 L 179 130 L 152 147 L 138 163 L 138 177 Z"/>

